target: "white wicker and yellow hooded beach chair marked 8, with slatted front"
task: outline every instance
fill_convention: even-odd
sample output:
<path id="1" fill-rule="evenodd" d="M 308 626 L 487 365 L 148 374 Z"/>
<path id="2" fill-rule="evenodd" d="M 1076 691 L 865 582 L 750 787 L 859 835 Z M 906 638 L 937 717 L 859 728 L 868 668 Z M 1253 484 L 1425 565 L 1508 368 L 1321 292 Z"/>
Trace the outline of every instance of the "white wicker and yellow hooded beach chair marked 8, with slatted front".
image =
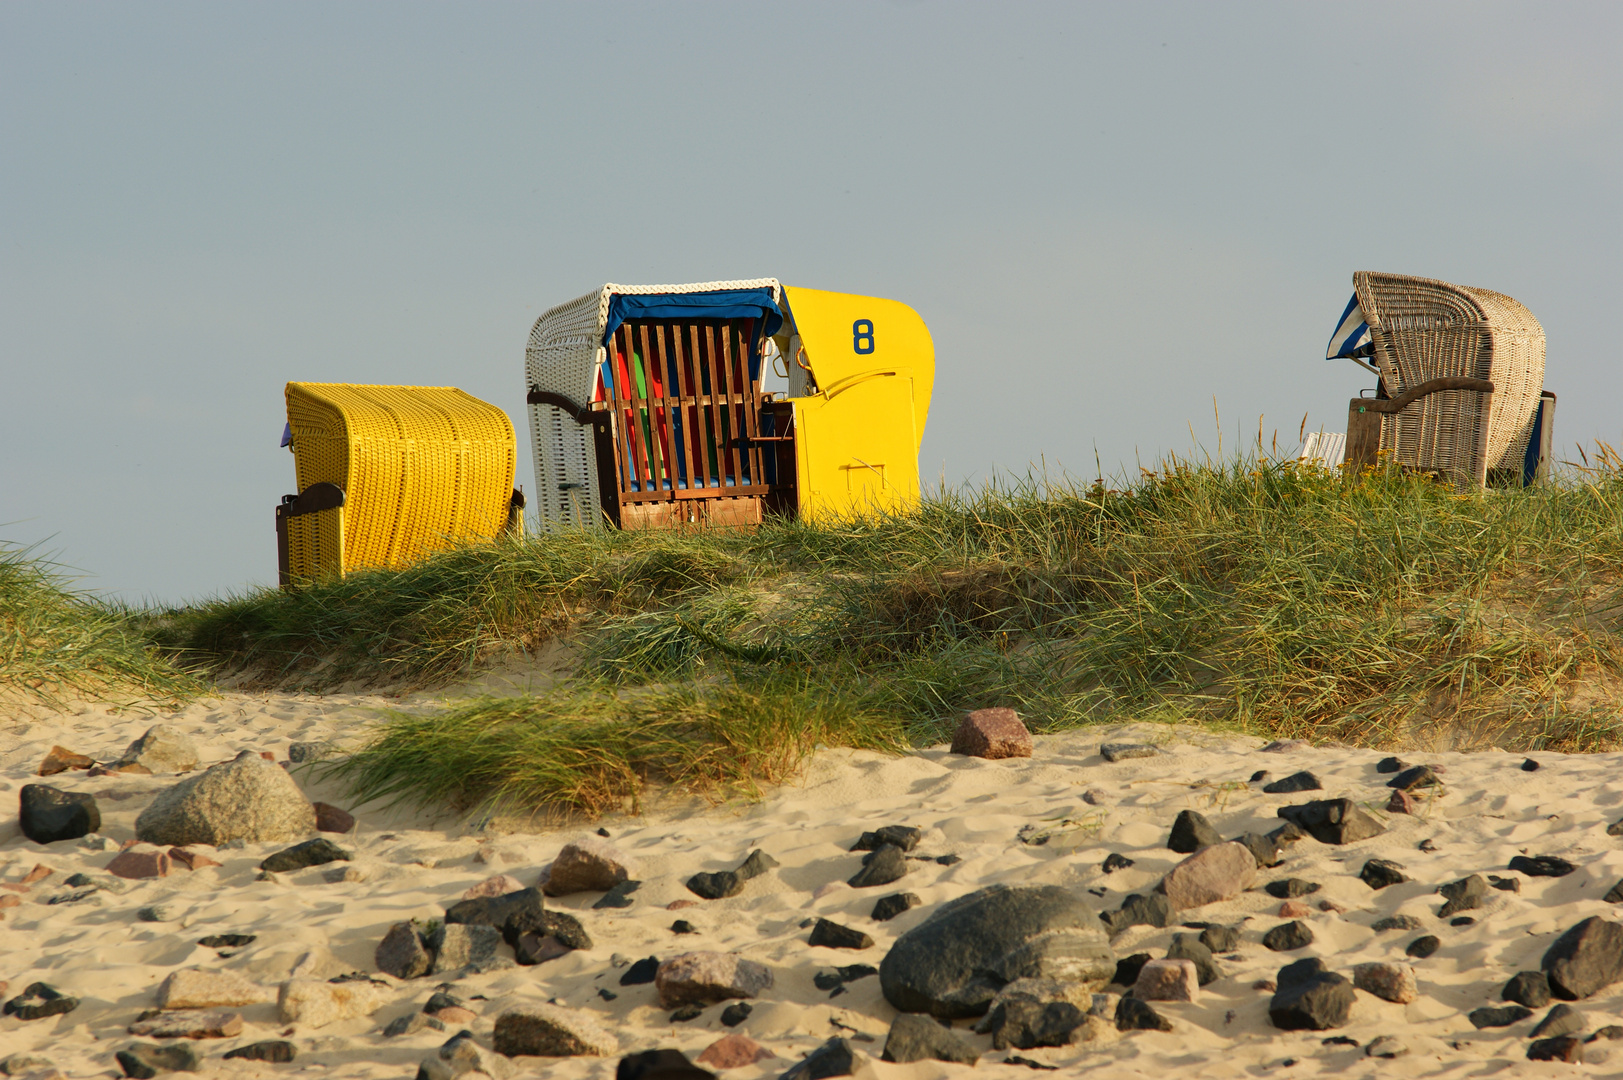
<path id="1" fill-rule="evenodd" d="M 786 396 L 763 391 L 768 362 Z M 896 300 L 773 278 L 607 284 L 536 320 L 524 372 L 544 529 L 919 500 L 935 349 Z"/>

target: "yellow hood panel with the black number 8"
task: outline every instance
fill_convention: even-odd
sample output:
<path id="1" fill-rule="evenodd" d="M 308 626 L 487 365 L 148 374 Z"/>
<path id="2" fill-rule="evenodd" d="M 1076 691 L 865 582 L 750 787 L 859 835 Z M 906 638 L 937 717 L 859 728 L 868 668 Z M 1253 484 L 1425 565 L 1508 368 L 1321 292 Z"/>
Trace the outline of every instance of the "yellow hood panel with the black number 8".
<path id="1" fill-rule="evenodd" d="M 805 361 L 828 393 L 868 372 L 907 372 L 912 380 L 914 471 L 935 388 L 935 343 L 919 312 L 898 300 L 784 286 Z"/>

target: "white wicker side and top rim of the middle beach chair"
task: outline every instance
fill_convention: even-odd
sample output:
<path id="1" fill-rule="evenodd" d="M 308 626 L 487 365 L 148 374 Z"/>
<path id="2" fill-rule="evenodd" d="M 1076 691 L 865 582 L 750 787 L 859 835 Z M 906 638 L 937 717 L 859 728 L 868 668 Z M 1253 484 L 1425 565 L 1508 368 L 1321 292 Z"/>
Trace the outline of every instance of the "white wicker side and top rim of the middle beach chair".
<path id="1" fill-rule="evenodd" d="M 717 292 L 722 289 L 771 289 L 782 302 L 776 278 L 700 281 L 688 284 L 605 284 L 566 304 L 549 309 L 529 331 L 524 348 L 524 380 L 529 390 L 562 393 L 588 404 L 597 396 L 597 365 L 604 359 L 602 335 L 609 302 L 615 294 Z M 591 435 L 563 409 L 529 406 L 531 447 L 536 463 L 536 513 L 544 531 L 599 525 L 597 458 Z"/>

